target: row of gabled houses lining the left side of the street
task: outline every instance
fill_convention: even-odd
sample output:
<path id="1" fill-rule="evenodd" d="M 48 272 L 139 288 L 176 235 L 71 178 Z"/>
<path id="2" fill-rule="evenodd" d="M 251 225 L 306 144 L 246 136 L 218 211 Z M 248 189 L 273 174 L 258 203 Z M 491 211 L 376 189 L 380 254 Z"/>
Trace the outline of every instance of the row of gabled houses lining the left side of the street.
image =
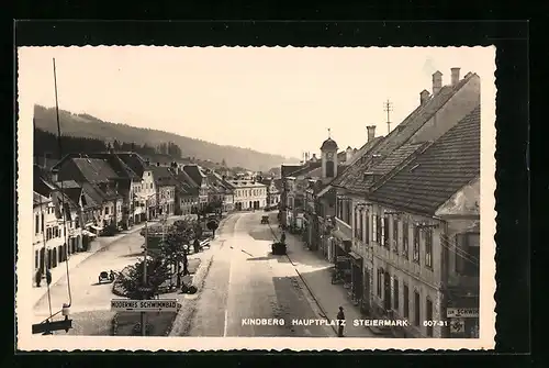
<path id="1" fill-rule="evenodd" d="M 280 180 L 233 180 L 211 169 L 156 161 L 133 152 L 70 154 L 34 165 L 34 275 L 85 252 L 93 238 L 146 220 L 265 208 L 280 202 Z"/>

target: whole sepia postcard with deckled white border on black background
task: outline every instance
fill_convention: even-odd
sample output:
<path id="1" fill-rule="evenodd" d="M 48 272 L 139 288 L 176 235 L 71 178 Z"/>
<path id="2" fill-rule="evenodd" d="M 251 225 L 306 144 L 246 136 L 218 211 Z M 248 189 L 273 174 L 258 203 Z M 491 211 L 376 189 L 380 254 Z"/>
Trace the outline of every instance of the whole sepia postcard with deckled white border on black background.
<path id="1" fill-rule="evenodd" d="M 16 57 L 18 348 L 493 348 L 495 47 Z"/>

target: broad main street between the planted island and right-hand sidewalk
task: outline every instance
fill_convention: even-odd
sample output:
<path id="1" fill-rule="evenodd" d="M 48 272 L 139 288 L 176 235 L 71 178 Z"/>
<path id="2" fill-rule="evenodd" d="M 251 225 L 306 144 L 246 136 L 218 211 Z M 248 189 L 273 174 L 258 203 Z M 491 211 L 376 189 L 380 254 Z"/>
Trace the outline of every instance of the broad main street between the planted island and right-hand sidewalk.
<path id="1" fill-rule="evenodd" d="M 260 224 L 264 214 L 236 213 L 221 228 L 219 249 L 187 335 L 334 336 L 329 326 L 291 325 L 294 319 L 322 320 L 322 313 L 288 257 L 270 254 L 273 237 L 269 226 Z M 270 216 L 274 220 L 276 213 Z M 248 325 L 249 319 L 272 320 L 271 325 Z"/>

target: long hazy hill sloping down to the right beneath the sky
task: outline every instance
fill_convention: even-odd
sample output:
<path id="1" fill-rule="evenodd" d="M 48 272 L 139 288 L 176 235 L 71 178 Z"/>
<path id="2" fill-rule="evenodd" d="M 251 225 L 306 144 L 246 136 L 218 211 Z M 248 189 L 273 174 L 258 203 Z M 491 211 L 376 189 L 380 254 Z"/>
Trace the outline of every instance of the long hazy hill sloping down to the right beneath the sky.
<path id="1" fill-rule="evenodd" d="M 181 148 L 183 157 L 194 157 L 212 163 L 225 161 L 229 167 L 240 166 L 260 171 L 269 170 L 281 164 L 299 161 L 296 158 L 265 154 L 242 147 L 222 146 L 175 133 L 104 122 L 89 114 L 75 114 L 64 110 L 59 110 L 59 121 L 63 135 L 99 138 L 105 142 L 117 140 L 153 147 L 161 143 L 173 142 Z M 36 129 L 57 133 L 55 109 L 35 105 L 34 123 Z"/>

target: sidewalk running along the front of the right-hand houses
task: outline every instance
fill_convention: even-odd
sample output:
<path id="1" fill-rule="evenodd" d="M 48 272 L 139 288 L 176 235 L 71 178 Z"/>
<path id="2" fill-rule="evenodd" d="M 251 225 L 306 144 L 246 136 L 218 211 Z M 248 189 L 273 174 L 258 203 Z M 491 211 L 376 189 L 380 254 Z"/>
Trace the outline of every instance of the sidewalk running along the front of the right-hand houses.
<path id="1" fill-rule="evenodd" d="M 330 268 L 333 265 L 321 258 L 320 254 L 303 247 L 303 242 L 296 235 L 287 234 L 288 256 L 295 265 L 303 282 L 312 292 L 314 299 L 328 319 L 336 319 L 339 306 L 344 308 L 347 321 L 344 335 L 347 337 L 374 337 L 366 326 L 354 326 L 354 320 L 361 320 L 362 315 L 347 295 L 347 289 L 341 285 L 332 283 Z"/>

